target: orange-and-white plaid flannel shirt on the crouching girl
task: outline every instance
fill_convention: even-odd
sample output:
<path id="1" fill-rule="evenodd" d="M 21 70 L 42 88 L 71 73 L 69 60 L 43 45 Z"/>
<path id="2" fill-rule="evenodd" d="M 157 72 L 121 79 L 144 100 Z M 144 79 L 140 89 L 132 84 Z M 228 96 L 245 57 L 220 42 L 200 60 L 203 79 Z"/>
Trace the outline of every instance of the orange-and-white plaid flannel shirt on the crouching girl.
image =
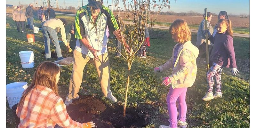
<path id="1" fill-rule="evenodd" d="M 28 93 L 16 113 L 20 117 L 18 128 L 53 128 L 56 123 L 63 128 L 83 128 L 81 123 L 70 118 L 62 99 L 41 85 Z"/>

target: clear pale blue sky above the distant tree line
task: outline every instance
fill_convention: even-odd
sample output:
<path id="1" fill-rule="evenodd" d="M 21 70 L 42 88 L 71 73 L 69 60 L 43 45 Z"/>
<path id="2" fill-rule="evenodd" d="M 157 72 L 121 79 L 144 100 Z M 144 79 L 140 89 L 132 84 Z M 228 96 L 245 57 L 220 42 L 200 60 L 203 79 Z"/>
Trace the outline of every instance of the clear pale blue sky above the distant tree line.
<path id="1" fill-rule="evenodd" d="M 36 3 L 42 4 L 44 0 L 6 0 L 6 4 L 18 5 L 19 1 L 24 4 Z M 46 0 L 45 0 L 46 1 Z M 80 1 L 80 6 L 82 5 L 82 0 L 65 0 L 65 6 L 74 6 L 78 7 L 78 1 Z M 107 0 L 103 0 L 104 5 L 107 5 Z M 129 0 L 131 1 L 131 0 Z M 158 0 L 157 0 L 158 1 Z M 54 4 L 55 0 L 51 0 L 51 5 Z M 109 4 L 111 4 L 112 0 L 108 0 Z M 88 0 L 84 0 L 84 5 L 88 3 Z M 232 14 L 250 14 L 250 0 L 171 0 L 171 9 L 167 8 L 163 10 L 166 11 L 174 11 L 174 12 L 188 12 L 195 11 L 199 13 L 204 13 L 204 8 L 207 8 L 208 12 L 213 12 L 218 14 L 220 11 L 224 10 L 226 12 Z M 35 5 L 36 6 L 36 5 Z M 64 7 L 64 0 L 59 0 L 59 6 Z M 54 4 L 56 7 L 56 2 Z M 114 7 L 113 7 L 114 8 Z"/>

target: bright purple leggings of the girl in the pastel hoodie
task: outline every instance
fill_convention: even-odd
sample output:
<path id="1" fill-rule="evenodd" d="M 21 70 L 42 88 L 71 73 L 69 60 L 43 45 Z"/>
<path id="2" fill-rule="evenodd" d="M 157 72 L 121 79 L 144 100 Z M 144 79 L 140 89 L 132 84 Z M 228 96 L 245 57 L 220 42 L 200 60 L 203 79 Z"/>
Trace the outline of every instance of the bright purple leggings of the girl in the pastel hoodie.
<path id="1" fill-rule="evenodd" d="M 179 118 L 180 121 L 186 121 L 187 104 L 186 104 L 186 93 L 188 88 L 175 88 L 170 87 L 169 93 L 166 97 L 166 103 L 169 112 L 169 122 L 171 128 L 177 128 L 177 116 L 178 111 L 176 107 L 176 100 L 179 104 Z"/>

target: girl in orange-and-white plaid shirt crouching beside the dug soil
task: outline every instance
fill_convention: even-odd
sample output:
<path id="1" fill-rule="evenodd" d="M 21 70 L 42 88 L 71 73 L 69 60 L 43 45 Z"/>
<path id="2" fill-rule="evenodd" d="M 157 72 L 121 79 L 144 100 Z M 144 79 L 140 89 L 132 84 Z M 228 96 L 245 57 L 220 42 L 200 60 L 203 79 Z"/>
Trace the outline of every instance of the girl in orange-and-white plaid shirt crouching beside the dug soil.
<path id="1" fill-rule="evenodd" d="M 58 93 L 60 67 L 51 61 L 40 63 L 30 86 L 23 92 L 18 107 L 19 128 L 93 128 L 93 122 L 72 120 Z M 59 127 L 57 126 L 57 127 Z"/>

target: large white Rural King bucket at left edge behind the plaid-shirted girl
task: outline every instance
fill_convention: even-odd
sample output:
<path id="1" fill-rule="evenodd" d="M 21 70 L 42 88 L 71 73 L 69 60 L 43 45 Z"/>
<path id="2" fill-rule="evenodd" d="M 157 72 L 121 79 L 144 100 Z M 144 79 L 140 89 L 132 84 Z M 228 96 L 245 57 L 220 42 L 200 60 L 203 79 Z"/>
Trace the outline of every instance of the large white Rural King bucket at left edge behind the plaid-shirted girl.
<path id="1" fill-rule="evenodd" d="M 6 84 L 6 98 L 10 108 L 20 102 L 21 95 L 27 88 L 27 82 L 14 82 Z"/>

